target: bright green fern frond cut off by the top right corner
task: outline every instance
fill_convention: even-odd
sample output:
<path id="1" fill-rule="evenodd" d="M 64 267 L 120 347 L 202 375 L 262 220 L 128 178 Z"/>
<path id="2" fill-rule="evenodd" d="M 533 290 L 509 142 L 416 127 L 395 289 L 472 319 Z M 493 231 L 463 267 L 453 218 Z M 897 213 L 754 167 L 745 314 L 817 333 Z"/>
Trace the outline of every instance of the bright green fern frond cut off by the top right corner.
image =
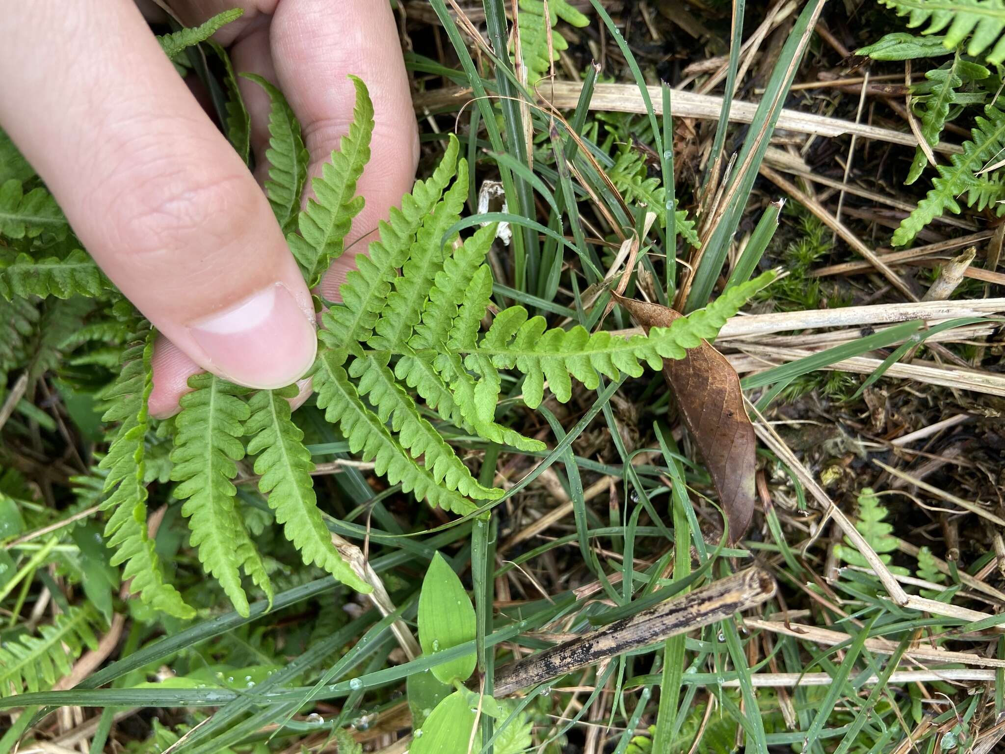
<path id="1" fill-rule="evenodd" d="M 987 54 L 988 62 L 1005 60 L 1005 2 L 1003 0 L 879 0 L 882 5 L 909 16 L 908 26 L 918 28 L 928 24 L 923 34 L 945 30 L 943 44 L 953 49 L 967 37 L 967 53 L 979 55 L 994 45 Z"/>

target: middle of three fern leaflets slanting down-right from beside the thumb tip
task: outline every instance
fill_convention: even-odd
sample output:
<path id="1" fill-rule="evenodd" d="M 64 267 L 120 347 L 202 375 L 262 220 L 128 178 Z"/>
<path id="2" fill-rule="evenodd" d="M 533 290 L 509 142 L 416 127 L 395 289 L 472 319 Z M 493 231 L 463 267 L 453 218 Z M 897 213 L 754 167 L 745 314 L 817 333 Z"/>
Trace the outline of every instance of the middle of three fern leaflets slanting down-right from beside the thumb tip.
<path id="1" fill-rule="evenodd" d="M 395 381 L 394 374 L 370 353 L 356 359 L 349 373 L 359 378 L 358 392 L 367 396 L 382 422 L 391 422 L 398 441 L 412 457 L 422 458 L 437 485 L 456 490 L 468 498 L 494 500 L 502 490 L 479 485 L 433 425 L 419 413 L 415 401 Z"/>

